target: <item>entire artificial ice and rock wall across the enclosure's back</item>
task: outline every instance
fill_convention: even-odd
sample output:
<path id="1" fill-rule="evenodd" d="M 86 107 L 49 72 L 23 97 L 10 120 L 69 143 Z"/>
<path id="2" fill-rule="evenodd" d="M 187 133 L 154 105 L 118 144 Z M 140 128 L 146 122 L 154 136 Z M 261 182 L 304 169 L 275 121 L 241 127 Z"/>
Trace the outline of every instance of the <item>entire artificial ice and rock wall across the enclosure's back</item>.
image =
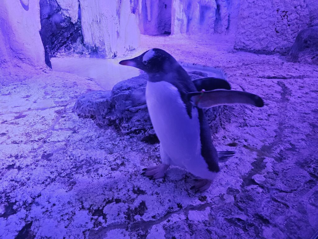
<path id="1" fill-rule="evenodd" d="M 318 24 L 317 5 L 314 0 L 3 0 L 1 58 L 14 55 L 41 66 L 42 45 L 49 66 L 53 56 L 113 58 L 136 49 L 140 33 L 207 40 L 214 33 L 232 34 L 235 49 L 288 53 L 302 29 Z"/>

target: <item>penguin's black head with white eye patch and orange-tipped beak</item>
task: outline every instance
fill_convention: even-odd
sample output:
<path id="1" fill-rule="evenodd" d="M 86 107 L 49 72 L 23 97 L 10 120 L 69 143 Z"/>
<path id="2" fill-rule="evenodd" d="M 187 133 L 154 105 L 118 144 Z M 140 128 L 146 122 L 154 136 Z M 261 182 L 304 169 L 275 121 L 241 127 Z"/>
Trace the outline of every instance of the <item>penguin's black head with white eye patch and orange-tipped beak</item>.
<path id="1" fill-rule="evenodd" d="M 153 48 L 149 51 L 142 53 L 132 59 L 123 60 L 119 64 L 124 66 L 133 66 L 145 71 L 148 74 L 169 72 L 174 67 L 179 66 L 176 59 L 174 59 L 166 51 Z"/>

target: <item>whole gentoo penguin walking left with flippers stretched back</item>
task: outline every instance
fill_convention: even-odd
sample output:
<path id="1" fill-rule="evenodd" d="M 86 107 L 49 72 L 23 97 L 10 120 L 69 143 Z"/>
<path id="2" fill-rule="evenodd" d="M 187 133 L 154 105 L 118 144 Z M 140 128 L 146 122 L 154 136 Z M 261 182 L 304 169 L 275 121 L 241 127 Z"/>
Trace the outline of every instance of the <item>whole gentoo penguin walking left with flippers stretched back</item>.
<path id="1" fill-rule="evenodd" d="M 143 174 L 161 178 L 170 165 L 175 165 L 200 178 L 191 189 L 197 192 L 208 189 L 220 168 L 218 152 L 201 108 L 228 104 L 262 107 L 263 100 L 250 93 L 230 91 L 230 85 L 223 79 L 191 81 L 180 64 L 162 49 L 150 49 L 119 64 L 136 67 L 149 76 L 146 103 L 160 141 L 162 163 L 144 169 Z"/>

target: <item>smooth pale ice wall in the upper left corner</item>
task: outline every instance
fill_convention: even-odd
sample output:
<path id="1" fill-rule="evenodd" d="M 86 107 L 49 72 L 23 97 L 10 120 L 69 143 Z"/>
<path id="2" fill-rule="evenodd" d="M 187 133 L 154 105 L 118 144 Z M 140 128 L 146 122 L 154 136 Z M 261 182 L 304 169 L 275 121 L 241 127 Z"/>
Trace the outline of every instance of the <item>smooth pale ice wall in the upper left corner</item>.
<path id="1" fill-rule="evenodd" d="M 0 67 L 45 66 L 39 2 L 0 1 Z"/>

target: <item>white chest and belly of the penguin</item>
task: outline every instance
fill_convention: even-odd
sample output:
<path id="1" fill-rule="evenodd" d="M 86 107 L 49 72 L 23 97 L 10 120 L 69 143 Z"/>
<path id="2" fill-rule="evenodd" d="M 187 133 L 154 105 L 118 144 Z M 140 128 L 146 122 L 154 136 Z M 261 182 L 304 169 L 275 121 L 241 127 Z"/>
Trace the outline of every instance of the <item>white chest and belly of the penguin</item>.
<path id="1" fill-rule="evenodd" d="M 177 88 L 165 81 L 147 82 L 146 102 L 156 134 L 171 160 L 179 165 L 200 157 L 198 112 L 193 108 L 190 119 Z"/>

